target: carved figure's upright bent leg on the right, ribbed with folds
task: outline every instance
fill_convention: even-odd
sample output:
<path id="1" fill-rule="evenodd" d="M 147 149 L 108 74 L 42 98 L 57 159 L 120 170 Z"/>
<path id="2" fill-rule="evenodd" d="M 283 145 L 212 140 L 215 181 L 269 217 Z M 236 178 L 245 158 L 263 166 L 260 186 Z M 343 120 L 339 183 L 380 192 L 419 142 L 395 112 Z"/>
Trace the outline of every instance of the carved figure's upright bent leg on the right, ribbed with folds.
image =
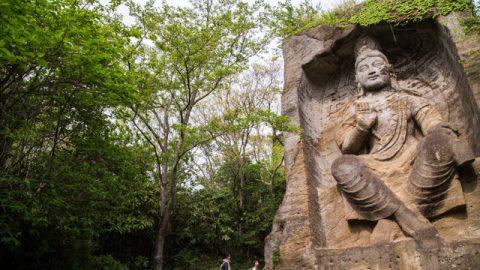
<path id="1" fill-rule="evenodd" d="M 455 167 L 451 135 L 437 128 L 423 138 L 407 184 L 422 214 L 427 215 L 445 198 Z"/>

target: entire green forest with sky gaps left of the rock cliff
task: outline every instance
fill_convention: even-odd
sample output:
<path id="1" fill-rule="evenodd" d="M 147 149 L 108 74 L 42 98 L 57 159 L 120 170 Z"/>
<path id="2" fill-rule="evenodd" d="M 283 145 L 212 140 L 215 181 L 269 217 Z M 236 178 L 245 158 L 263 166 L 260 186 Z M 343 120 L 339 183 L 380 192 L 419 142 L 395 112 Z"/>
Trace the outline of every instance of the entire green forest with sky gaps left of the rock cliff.
<path id="1" fill-rule="evenodd" d="M 133 22 L 119 15 L 127 8 Z M 265 6 L 0 3 L 0 261 L 207 269 L 261 258 L 282 198 Z"/>

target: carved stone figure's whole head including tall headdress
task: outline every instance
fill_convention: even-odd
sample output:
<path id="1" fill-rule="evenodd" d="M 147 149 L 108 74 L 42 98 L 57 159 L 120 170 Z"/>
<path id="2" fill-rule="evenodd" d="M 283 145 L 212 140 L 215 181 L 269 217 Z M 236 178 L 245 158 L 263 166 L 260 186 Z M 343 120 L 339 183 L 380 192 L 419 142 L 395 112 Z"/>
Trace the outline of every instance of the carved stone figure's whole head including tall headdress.
<path id="1" fill-rule="evenodd" d="M 365 91 L 375 91 L 391 84 L 391 66 L 370 37 L 360 39 L 355 46 L 355 78 Z"/>

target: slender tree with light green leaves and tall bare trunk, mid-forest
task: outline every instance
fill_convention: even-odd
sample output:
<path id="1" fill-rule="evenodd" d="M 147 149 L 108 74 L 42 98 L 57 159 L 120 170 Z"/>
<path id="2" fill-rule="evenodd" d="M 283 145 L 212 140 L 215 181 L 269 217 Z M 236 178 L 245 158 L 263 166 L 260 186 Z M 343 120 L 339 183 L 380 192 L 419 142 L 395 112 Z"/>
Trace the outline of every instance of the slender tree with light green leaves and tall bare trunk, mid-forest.
<path id="1" fill-rule="evenodd" d="M 224 88 L 245 68 L 264 41 L 258 35 L 258 5 L 241 1 L 193 1 L 178 8 L 163 3 L 142 9 L 131 4 L 153 46 L 140 45 L 129 66 L 138 76 L 142 102 L 130 108 L 131 123 L 155 153 L 153 178 L 160 204 L 155 228 L 153 269 L 162 269 L 163 248 L 182 166 L 189 152 L 215 137 L 220 125 L 192 123 L 194 108 Z"/>

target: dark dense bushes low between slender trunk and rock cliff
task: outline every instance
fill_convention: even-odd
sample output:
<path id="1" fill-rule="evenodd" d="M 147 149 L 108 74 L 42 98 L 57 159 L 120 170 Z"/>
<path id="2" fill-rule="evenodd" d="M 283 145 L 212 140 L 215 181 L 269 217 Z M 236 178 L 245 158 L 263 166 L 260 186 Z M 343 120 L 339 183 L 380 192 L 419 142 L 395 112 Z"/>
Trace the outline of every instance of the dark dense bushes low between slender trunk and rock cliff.
<path id="1" fill-rule="evenodd" d="M 278 174 L 273 186 L 266 186 L 259 181 L 262 164 L 247 164 L 246 203 L 240 209 L 231 188 L 235 178 L 231 166 L 235 165 L 223 165 L 215 188 L 179 191 L 167 248 L 171 254 L 167 265 L 172 269 L 215 269 L 218 260 L 208 257 L 225 252 L 236 262 L 250 263 L 249 267 L 254 259 L 263 258 L 263 241 L 283 198 L 285 178 Z"/>

